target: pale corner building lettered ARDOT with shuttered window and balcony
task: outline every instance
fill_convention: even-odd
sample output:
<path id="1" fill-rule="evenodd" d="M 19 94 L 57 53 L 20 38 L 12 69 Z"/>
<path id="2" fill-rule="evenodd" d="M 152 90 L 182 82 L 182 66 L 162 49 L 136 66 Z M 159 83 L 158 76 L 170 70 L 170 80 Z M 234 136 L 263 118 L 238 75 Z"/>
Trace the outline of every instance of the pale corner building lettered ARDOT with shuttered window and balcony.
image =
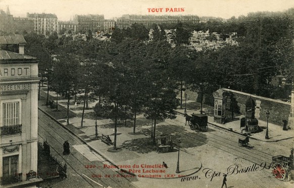
<path id="1" fill-rule="evenodd" d="M 0 36 L 0 186 L 36 187 L 38 61 L 24 54 L 22 35 Z"/>

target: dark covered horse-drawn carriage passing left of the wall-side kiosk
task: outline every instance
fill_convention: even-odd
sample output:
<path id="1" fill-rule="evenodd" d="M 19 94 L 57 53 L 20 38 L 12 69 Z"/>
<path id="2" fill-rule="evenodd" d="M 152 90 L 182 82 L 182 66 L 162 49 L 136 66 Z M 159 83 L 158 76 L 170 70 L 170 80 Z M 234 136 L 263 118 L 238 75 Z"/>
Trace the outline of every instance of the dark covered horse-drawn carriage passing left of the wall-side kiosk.
<path id="1" fill-rule="evenodd" d="M 188 122 L 191 130 L 195 130 L 196 132 L 208 131 L 208 125 L 207 125 L 208 116 L 207 115 L 194 114 L 194 113 L 192 113 L 191 115 L 188 115 L 185 113 L 185 117 L 186 117 L 186 124 Z"/>

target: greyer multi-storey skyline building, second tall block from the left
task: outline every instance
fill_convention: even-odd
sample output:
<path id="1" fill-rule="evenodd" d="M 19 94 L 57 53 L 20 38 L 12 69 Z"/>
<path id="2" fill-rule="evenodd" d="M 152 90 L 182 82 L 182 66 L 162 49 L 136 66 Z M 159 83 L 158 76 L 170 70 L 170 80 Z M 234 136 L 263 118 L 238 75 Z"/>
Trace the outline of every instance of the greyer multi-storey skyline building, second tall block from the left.
<path id="1" fill-rule="evenodd" d="M 91 30 L 92 33 L 104 30 L 104 15 L 75 15 L 73 23 L 77 25 L 80 33 Z"/>

